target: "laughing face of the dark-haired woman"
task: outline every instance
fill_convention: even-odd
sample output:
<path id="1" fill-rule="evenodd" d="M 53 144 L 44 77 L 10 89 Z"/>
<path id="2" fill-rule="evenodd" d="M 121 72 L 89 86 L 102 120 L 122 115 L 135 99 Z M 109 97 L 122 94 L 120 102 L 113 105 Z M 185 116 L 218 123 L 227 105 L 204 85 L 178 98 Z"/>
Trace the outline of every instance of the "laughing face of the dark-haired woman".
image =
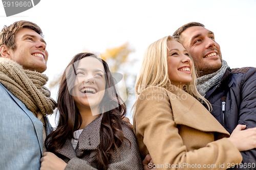
<path id="1" fill-rule="evenodd" d="M 77 108 L 98 107 L 105 93 L 105 71 L 100 60 L 84 57 L 78 61 L 73 97 Z"/>

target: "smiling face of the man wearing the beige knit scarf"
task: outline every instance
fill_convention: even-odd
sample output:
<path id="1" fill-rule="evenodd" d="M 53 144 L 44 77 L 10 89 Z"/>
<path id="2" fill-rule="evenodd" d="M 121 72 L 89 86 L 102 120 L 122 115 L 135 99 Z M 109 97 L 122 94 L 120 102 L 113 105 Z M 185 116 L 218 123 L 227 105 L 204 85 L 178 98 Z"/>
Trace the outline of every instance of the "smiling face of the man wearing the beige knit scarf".
<path id="1" fill-rule="evenodd" d="M 44 72 L 47 68 L 48 52 L 44 38 L 31 29 L 23 28 L 15 35 L 16 48 L 8 48 L 8 56 L 24 69 Z"/>

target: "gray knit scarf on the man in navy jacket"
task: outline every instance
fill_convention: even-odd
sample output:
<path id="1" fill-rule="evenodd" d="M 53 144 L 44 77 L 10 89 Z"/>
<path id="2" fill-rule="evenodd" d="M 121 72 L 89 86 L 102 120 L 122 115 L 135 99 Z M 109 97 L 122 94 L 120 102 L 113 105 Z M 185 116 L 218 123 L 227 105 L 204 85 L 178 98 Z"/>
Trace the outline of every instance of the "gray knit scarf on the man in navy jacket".
<path id="1" fill-rule="evenodd" d="M 227 62 L 222 60 L 222 66 L 220 69 L 213 72 L 212 74 L 197 78 L 198 92 L 202 96 L 205 96 L 206 92 L 210 89 L 210 87 L 212 87 L 213 85 L 215 85 L 221 80 L 227 68 L 228 68 Z"/>

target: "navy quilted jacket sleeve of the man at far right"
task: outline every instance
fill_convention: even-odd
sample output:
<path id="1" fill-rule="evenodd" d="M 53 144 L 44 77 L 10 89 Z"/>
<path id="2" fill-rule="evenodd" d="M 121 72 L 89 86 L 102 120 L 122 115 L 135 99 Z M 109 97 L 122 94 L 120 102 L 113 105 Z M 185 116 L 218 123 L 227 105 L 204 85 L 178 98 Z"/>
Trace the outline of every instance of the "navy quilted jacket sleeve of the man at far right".
<path id="1" fill-rule="evenodd" d="M 240 87 L 241 105 L 238 110 L 238 124 L 246 125 L 246 129 L 256 127 L 256 68 L 250 68 L 244 74 L 243 84 Z M 241 152 L 242 163 L 233 169 L 255 169 L 256 149 Z"/>

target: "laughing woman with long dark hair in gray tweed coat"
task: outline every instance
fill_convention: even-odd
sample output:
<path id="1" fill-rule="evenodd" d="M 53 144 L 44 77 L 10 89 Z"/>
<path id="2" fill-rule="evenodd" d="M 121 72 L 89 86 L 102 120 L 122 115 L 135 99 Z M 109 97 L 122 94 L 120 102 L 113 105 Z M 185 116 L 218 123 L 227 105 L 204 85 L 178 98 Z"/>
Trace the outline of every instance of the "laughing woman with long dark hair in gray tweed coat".
<path id="1" fill-rule="evenodd" d="M 41 169 L 142 169 L 115 83 L 104 60 L 74 56 L 60 82 L 58 126 L 46 138 Z"/>

